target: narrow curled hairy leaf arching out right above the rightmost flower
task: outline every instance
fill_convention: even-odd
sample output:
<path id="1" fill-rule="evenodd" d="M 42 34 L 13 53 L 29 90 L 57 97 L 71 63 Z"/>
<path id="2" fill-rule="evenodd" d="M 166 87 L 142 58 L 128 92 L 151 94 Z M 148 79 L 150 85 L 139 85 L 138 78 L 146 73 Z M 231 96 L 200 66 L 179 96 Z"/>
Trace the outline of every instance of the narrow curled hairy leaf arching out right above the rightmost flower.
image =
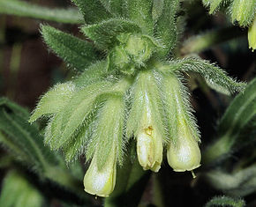
<path id="1" fill-rule="evenodd" d="M 207 85 L 217 92 L 230 94 L 241 92 L 245 89 L 246 84 L 237 82 L 227 76 L 226 72 L 213 63 L 197 58 L 184 58 L 182 60 L 171 61 L 170 70 L 182 70 L 185 72 L 196 72 L 206 79 Z"/>

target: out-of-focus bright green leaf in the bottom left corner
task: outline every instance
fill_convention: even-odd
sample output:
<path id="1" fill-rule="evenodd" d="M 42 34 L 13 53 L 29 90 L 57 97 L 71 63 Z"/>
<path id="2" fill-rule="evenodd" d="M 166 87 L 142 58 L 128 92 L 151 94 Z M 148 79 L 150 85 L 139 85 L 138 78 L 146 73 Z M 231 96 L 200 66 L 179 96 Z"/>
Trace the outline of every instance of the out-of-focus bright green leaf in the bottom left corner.
<path id="1" fill-rule="evenodd" d="M 43 197 L 22 174 L 16 171 L 9 172 L 3 183 L 0 196 L 0 206 L 41 207 Z"/>

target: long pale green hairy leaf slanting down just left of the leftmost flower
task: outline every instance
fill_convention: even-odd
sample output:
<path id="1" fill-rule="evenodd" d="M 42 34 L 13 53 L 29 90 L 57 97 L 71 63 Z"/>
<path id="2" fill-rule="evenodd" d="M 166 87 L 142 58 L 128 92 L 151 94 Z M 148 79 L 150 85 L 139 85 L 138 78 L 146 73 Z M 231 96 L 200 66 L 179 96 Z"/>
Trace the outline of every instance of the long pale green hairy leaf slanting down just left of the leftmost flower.
<path id="1" fill-rule="evenodd" d="M 59 112 L 51 122 L 52 149 L 59 149 L 72 138 L 73 133 L 86 120 L 96 105 L 96 98 L 109 86 L 109 82 L 102 81 L 88 85 L 74 93 L 72 100 Z"/>

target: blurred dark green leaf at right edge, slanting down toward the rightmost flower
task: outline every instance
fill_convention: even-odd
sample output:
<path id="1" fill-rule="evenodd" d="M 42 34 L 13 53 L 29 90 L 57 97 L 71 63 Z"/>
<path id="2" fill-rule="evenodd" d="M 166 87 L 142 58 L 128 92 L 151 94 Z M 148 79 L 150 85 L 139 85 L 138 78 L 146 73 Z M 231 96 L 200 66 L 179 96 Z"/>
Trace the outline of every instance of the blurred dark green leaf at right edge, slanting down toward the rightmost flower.
<path id="1" fill-rule="evenodd" d="M 247 85 L 244 92 L 240 92 L 231 102 L 230 107 L 222 116 L 218 124 L 218 139 L 208 146 L 203 159 L 207 164 L 223 159 L 232 150 L 234 145 L 243 144 L 245 140 L 237 140 L 246 125 L 256 115 L 256 78 Z M 238 142 L 239 141 L 239 142 Z M 228 156 L 226 156 L 228 157 Z"/>

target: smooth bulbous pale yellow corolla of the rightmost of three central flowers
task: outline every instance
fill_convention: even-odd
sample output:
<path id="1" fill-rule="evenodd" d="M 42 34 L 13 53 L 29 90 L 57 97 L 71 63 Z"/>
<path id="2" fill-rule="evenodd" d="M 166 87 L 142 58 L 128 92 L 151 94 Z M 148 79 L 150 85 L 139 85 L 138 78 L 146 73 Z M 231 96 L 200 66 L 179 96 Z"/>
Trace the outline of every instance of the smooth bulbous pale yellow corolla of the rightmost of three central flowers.
<path id="1" fill-rule="evenodd" d="M 176 172 L 191 171 L 200 166 L 200 148 L 185 122 L 177 128 L 177 139 L 167 149 L 168 163 Z"/>

